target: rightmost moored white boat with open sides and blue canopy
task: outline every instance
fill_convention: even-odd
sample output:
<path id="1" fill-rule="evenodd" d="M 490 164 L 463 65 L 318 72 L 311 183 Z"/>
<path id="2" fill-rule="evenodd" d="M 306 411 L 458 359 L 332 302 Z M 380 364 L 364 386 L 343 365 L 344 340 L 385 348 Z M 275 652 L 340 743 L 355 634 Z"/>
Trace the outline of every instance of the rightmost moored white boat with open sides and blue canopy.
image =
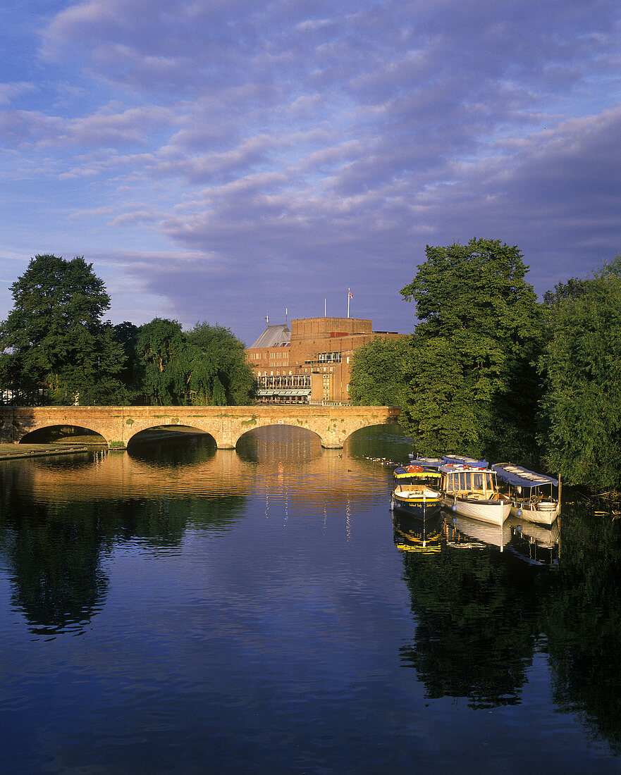
<path id="1" fill-rule="evenodd" d="M 495 463 L 498 478 L 509 485 L 511 513 L 526 522 L 551 525 L 561 512 L 558 480 L 514 463 Z"/>

